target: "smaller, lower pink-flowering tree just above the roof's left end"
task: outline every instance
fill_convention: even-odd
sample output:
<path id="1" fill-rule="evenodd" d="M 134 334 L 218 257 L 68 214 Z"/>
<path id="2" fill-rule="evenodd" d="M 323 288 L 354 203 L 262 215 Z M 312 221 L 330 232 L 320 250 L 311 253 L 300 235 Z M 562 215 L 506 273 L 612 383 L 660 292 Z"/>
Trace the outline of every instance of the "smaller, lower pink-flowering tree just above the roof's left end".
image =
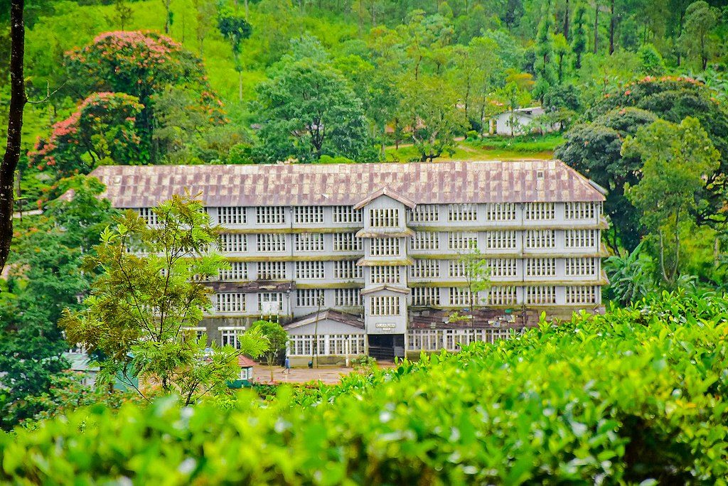
<path id="1" fill-rule="evenodd" d="M 53 168 L 60 177 L 90 172 L 98 164 L 138 159 L 136 117 L 144 105 L 123 93 L 93 93 L 67 119 L 53 125 L 47 140 L 28 153 L 38 170 Z"/>

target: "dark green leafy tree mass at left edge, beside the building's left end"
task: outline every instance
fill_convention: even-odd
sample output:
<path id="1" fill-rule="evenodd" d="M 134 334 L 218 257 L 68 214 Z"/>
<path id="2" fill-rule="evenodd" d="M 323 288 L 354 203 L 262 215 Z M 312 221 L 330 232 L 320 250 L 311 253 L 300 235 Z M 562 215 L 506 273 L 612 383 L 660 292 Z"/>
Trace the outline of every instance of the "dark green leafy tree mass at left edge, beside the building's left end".
<path id="1" fill-rule="evenodd" d="M 45 394 L 60 373 L 69 344 L 56 325 L 63 308 L 79 308 L 79 295 L 93 274 L 82 271 L 114 211 L 100 199 L 103 185 L 90 178 L 66 179 L 74 199 L 55 200 L 43 215 L 25 218 L 17 228 L 0 299 L 0 427 L 7 429 L 44 410 Z"/>

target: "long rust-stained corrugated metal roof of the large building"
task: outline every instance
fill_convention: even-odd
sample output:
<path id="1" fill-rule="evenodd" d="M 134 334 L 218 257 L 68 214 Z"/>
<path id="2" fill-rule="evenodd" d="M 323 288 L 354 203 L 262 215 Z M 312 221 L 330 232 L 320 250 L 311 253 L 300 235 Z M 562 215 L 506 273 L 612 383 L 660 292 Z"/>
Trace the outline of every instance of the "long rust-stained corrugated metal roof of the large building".
<path id="1" fill-rule="evenodd" d="M 408 164 L 102 166 L 114 207 L 152 207 L 201 193 L 208 206 L 355 205 L 387 189 L 416 204 L 603 201 L 558 160 Z"/>

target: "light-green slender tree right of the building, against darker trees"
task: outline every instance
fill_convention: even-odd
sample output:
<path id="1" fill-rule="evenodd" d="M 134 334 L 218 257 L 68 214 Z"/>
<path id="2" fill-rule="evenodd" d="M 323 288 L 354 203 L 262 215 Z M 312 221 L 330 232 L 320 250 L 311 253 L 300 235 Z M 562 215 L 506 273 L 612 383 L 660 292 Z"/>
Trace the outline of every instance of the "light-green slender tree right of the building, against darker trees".
<path id="1" fill-rule="evenodd" d="M 642 179 L 628 187 L 627 197 L 657 237 L 660 274 L 673 284 L 681 269 L 681 223 L 697 209 L 695 195 L 718 169 L 720 153 L 700 122 L 687 117 L 679 125 L 657 120 L 641 127 L 625 140 L 622 154 L 644 162 Z"/>

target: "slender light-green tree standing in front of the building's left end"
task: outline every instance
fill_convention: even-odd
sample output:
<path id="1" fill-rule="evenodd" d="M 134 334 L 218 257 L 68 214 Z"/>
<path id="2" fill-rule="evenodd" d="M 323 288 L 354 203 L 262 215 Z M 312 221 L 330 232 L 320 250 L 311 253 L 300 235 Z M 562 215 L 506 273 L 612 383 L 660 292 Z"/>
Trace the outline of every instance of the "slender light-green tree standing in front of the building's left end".
<path id="1" fill-rule="evenodd" d="M 100 383 L 134 377 L 177 393 L 189 405 L 209 391 L 226 390 L 237 375 L 237 356 L 260 355 L 268 343 L 258 332 L 241 335 L 240 350 L 213 351 L 186 330 L 212 305 L 202 282 L 227 264 L 213 252 L 217 239 L 202 202 L 173 196 L 153 210 L 154 221 L 128 211 L 107 228 L 85 262 L 100 276 L 82 311 L 65 311 L 60 326 L 71 343 L 99 354 Z M 147 392 L 138 389 L 146 397 Z"/>

